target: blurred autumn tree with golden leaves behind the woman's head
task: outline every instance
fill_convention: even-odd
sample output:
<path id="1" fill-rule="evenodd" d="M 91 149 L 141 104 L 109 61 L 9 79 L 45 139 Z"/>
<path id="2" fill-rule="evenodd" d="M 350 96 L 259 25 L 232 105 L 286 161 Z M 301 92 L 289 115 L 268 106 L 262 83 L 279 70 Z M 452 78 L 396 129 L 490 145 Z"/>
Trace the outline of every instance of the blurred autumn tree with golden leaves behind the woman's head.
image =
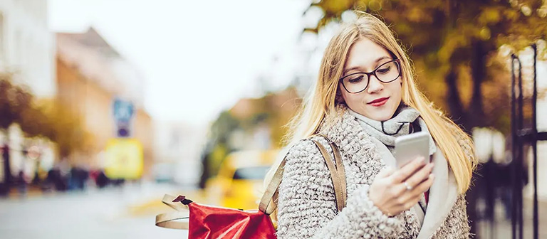
<path id="1" fill-rule="evenodd" d="M 304 29 L 315 33 L 348 9 L 380 14 L 410 50 L 424 92 L 467 130 L 507 132 L 509 72 L 497 51 L 516 52 L 547 36 L 545 1 L 323 0 L 310 7 L 324 13 Z"/>

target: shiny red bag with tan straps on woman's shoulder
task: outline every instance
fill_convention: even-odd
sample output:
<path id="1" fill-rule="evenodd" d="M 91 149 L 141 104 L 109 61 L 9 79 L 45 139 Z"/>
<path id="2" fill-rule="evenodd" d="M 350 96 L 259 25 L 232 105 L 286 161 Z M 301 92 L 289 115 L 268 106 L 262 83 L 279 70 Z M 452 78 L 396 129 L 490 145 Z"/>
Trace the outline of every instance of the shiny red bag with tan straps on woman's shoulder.
<path id="1" fill-rule="evenodd" d="M 330 142 L 335 155 L 335 166 L 326 149 L 315 140 L 313 142 L 320 149 L 328 166 L 333 179 L 338 211 L 341 211 L 345 206 L 345 174 L 340 153 Z M 164 228 L 188 229 L 190 239 L 275 239 L 276 229 L 273 228 L 269 216 L 275 208 L 270 202 L 273 193 L 281 184 L 283 166 L 285 166 L 285 159 L 281 161 L 281 165 L 266 188 L 259 210 L 242 211 L 234 208 L 206 206 L 194 203 L 184 196 L 175 198 L 166 194 L 162 200 L 163 203 L 177 212 L 157 215 L 156 225 Z"/>

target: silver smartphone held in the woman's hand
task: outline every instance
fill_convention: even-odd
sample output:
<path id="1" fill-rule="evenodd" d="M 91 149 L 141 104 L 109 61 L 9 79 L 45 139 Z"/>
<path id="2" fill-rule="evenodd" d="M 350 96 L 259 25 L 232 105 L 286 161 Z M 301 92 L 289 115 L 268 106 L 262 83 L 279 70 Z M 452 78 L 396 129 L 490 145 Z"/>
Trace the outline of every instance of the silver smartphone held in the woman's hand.
<path id="1" fill-rule="evenodd" d="M 398 169 L 418 156 L 429 159 L 429 134 L 427 132 L 416 132 L 395 139 L 395 160 Z"/>

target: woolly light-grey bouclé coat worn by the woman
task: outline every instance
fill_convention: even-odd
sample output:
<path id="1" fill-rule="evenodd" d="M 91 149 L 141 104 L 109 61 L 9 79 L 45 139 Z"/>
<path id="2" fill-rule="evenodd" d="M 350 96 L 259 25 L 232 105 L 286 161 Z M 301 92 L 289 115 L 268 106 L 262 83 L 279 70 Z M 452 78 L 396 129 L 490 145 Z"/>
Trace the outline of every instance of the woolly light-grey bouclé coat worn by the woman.
<path id="1" fill-rule="evenodd" d="M 347 205 L 338 213 L 328 168 L 313 142 L 304 139 L 289 150 L 286 159 L 278 194 L 278 238 L 469 238 L 466 201 L 457 193 L 442 153 L 434 156 L 437 177 L 420 228 L 412 211 L 387 217 L 368 198 L 370 184 L 385 163 L 347 108 L 338 107 L 338 117 L 325 120 L 320 132 L 340 149 Z M 332 154 L 323 138 L 316 139 Z"/>

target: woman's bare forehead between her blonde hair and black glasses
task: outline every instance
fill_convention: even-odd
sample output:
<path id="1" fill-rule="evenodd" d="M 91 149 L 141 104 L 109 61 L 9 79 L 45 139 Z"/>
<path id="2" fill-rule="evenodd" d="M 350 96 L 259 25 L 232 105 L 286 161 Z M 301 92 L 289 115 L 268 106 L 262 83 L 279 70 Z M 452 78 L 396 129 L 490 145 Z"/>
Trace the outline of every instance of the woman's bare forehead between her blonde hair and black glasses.
<path id="1" fill-rule="evenodd" d="M 390 53 L 385 50 L 385 48 L 370 41 L 368 38 L 360 38 L 351 46 L 348 60 L 346 60 L 344 68 L 358 67 L 373 70 L 377 63 L 377 59 L 385 57 L 391 58 Z"/>

